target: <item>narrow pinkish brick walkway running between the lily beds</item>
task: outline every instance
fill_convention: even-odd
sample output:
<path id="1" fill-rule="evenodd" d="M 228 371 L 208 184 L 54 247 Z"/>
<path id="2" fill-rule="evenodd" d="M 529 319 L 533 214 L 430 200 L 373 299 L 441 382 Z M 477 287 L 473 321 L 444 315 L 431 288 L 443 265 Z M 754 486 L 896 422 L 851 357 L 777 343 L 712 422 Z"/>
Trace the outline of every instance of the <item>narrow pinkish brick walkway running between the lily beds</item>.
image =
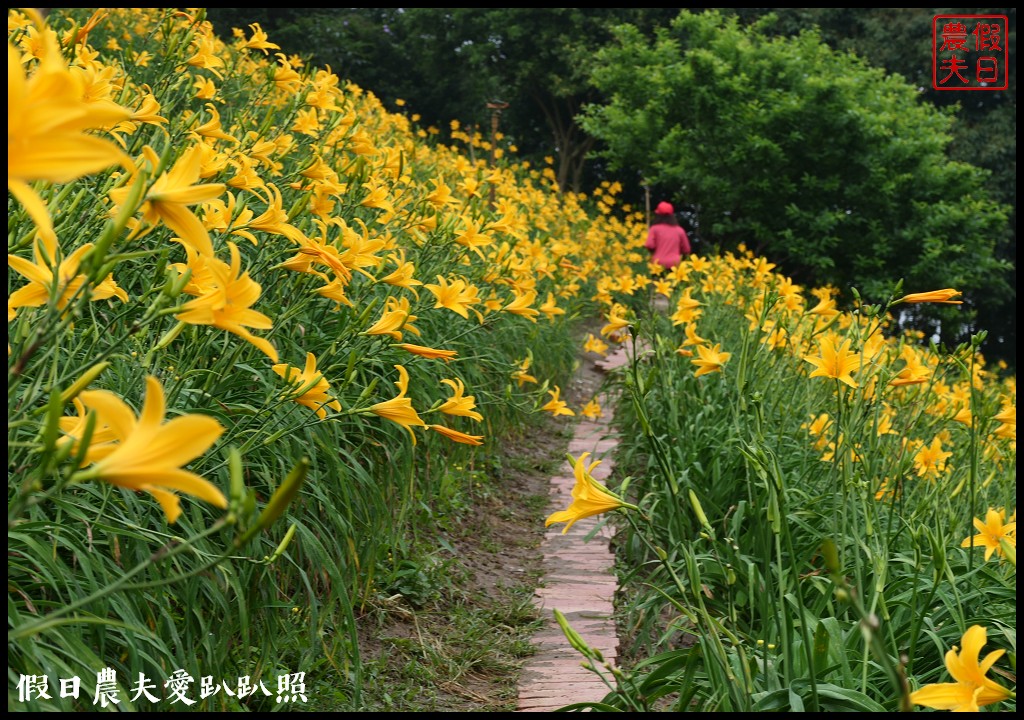
<path id="1" fill-rule="evenodd" d="M 608 371 L 626 362 L 626 346 L 622 345 L 598 363 L 598 367 Z M 601 460 L 593 475 L 604 481 L 612 471 L 615 440 L 608 433 L 614 408 L 606 395 L 598 401 L 602 417 L 597 421 L 579 419 L 568 452 L 572 457 L 591 453 L 590 461 Z M 575 479 L 568 463 L 564 467 L 564 472 L 551 478 L 549 512 L 564 510 L 571 502 Z M 608 547 L 611 531 L 602 527 L 589 542 L 585 541 L 600 521 L 600 516 L 585 518 L 565 535 L 562 535 L 564 525 L 556 524 L 545 535 L 541 546 L 544 587 L 538 589 L 534 598 L 545 625 L 534 636 L 537 653 L 520 676 L 518 712 L 551 712 L 572 703 L 600 701 L 608 692 L 597 675 L 583 669 L 583 655 L 568 644 L 552 612 L 554 609 L 562 612 L 591 647 L 599 649 L 607 662 L 615 663 L 618 638 L 612 618 L 616 583 L 614 557 Z"/>

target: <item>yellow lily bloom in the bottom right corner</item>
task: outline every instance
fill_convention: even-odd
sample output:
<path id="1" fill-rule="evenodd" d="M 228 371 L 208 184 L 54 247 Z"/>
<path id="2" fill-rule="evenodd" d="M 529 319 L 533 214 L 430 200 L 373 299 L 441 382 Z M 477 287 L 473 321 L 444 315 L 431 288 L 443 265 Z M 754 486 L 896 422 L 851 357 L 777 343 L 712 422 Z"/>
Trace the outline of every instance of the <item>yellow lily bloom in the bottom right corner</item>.
<path id="1" fill-rule="evenodd" d="M 946 652 L 946 670 L 956 682 L 935 682 L 910 693 L 910 703 L 935 710 L 977 713 L 979 708 L 1005 701 L 1012 694 L 1010 690 L 985 674 L 1002 657 L 1006 650 L 998 649 L 978 662 L 981 648 L 988 641 L 988 631 L 980 625 L 971 626 L 961 642 L 963 652 L 956 646 Z"/>

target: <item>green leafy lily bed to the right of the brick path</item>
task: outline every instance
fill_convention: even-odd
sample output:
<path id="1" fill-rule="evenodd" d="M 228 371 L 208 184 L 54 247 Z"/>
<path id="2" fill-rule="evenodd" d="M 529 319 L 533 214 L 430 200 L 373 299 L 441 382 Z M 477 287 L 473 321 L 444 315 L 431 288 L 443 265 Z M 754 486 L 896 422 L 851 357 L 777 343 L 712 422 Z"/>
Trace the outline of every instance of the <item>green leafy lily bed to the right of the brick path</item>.
<path id="1" fill-rule="evenodd" d="M 893 712 L 950 681 L 944 655 L 973 625 L 985 652 L 1009 651 L 989 677 L 1013 689 L 1015 563 L 963 544 L 989 508 L 1015 512 L 1015 426 L 996 419 L 1015 382 L 973 344 L 888 336 L 891 303 L 817 315 L 763 260 L 700 260 L 679 273 L 699 303 L 688 320 L 615 296 L 636 344 L 613 376 L 628 477 L 611 486 L 640 512 L 615 541 L 626 662 L 595 666 L 614 689 L 593 708 Z M 730 353 L 721 372 L 695 376 L 689 330 Z M 856 387 L 807 375 L 831 333 Z M 898 382 L 908 350 L 927 381 Z M 939 438 L 948 462 L 930 477 L 920 451 Z"/>

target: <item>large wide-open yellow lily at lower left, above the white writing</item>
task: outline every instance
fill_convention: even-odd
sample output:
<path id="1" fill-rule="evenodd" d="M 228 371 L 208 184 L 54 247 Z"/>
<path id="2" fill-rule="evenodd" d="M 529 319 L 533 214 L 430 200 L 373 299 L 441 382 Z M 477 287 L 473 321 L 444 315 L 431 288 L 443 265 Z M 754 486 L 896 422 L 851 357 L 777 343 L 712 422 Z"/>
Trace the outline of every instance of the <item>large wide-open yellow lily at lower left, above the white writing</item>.
<path id="1" fill-rule="evenodd" d="M 219 508 L 227 499 L 209 480 L 181 469 L 217 441 L 224 428 L 206 415 L 181 415 L 164 422 L 166 409 L 160 381 L 145 380 L 145 401 L 136 420 L 120 397 L 106 390 L 85 390 L 82 405 L 96 412 L 96 427 L 108 430 L 104 439 L 90 443 L 86 462 L 91 468 L 77 474 L 79 480 L 100 479 L 138 492 L 150 493 L 164 510 L 168 522 L 181 514 L 175 492 L 194 495 Z M 79 437 L 76 440 L 81 439 Z"/>

